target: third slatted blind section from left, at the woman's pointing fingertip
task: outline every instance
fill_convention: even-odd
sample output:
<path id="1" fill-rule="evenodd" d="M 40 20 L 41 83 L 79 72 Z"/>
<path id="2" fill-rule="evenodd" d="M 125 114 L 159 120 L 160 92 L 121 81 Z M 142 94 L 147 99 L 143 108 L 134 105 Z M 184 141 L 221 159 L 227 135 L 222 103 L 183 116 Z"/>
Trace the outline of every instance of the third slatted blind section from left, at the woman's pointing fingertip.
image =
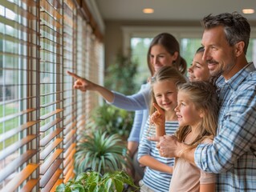
<path id="1" fill-rule="evenodd" d="M 71 0 L 64 1 L 64 71 L 75 71 L 75 54 L 76 49 L 76 11 L 75 5 Z M 75 137 L 76 137 L 76 121 L 75 121 L 75 90 L 72 89 L 74 79 L 64 72 L 64 161 L 63 161 L 63 182 L 67 182 L 75 177 L 74 173 L 74 154 L 75 154 Z"/>

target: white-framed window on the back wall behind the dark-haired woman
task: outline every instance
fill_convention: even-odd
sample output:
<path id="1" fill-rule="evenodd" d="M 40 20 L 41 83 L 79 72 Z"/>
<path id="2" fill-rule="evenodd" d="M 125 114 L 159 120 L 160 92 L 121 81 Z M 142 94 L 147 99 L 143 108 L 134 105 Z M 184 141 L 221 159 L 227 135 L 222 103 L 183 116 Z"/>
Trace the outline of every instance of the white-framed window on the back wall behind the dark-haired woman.
<path id="1" fill-rule="evenodd" d="M 173 34 L 173 36 L 177 38 L 178 42 L 180 42 L 181 57 L 185 58 L 189 67 L 197 48 L 201 46 L 201 30 L 201 27 L 154 28 L 124 26 L 124 53 L 128 54 L 128 50 L 131 50 L 132 59 L 139 63 L 138 74 L 140 75 L 137 75 L 136 82 L 140 85 L 150 75 L 147 64 L 147 53 L 150 42 L 156 34 L 160 34 L 162 32 Z M 256 65 L 256 32 L 255 30 L 251 31 L 250 45 L 246 56 L 248 62 L 254 62 Z"/>

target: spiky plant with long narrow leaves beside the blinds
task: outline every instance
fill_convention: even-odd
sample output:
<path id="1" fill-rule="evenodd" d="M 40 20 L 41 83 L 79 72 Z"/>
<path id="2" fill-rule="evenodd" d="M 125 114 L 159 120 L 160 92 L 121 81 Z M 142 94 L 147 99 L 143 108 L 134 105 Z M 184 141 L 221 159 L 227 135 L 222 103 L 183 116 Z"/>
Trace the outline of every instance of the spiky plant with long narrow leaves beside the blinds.
<path id="1" fill-rule="evenodd" d="M 95 130 L 91 135 L 84 133 L 75 153 L 76 174 L 83 173 L 88 167 L 100 174 L 122 170 L 128 165 L 126 149 L 118 134 L 107 135 L 101 130 Z"/>

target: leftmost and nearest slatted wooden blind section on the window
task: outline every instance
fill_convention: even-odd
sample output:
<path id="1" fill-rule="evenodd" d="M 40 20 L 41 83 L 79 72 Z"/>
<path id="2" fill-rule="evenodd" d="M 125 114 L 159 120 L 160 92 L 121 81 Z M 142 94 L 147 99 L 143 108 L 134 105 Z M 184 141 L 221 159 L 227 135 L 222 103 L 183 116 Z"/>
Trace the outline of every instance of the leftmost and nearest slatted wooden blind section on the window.
<path id="1" fill-rule="evenodd" d="M 39 5 L 0 2 L 0 190 L 39 178 Z M 31 183 L 33 188 L 36 182 Z"/>

